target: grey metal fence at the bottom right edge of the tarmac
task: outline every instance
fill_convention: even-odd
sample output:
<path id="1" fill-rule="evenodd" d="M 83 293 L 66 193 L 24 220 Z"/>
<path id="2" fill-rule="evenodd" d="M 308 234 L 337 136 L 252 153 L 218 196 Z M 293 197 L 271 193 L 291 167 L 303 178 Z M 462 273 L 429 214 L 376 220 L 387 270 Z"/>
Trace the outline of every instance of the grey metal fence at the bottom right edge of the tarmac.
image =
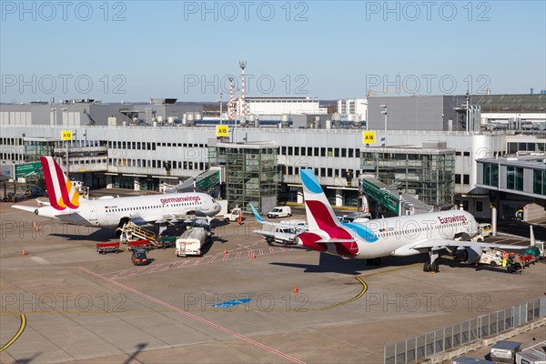
<path id="1" fill-rule="evenodd" d="M 543 317 L 546 317 L 546 297 L 462 321 L 456 325 L 385 347 L 384 363 L 414 363 Z"/>

